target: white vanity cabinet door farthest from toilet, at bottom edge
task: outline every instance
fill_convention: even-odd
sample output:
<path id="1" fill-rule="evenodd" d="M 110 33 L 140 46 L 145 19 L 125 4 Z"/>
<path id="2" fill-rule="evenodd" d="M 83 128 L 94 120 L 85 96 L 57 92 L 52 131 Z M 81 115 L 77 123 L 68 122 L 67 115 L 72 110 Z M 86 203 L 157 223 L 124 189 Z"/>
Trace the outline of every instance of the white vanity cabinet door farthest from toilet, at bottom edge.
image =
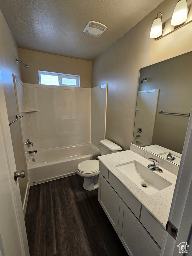
<path id="1" fill-rule="evenodd" d="M 159 256 L 160 247 L 121 200 L 118 236 L 130 256 Z"/>

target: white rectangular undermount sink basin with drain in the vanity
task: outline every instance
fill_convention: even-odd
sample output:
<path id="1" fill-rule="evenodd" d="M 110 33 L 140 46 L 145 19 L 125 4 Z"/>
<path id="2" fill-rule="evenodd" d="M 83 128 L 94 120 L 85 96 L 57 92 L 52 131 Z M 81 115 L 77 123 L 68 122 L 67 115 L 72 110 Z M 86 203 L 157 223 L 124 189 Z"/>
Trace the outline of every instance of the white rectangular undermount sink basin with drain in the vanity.
<path id="1" fill-rule="evenodd" d="M 156 171 L 150 170 L 137 161 L 116 165 L 116 167 L 149 196 L 172 185 L 156 174 Z"/>

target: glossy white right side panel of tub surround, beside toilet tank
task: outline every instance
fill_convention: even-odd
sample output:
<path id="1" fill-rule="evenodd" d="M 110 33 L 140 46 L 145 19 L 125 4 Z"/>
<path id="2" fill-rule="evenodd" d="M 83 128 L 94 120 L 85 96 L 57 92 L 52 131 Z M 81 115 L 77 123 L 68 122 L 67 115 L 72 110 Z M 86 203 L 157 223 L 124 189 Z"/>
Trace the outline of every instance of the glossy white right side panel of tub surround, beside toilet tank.
<path id="1" fill-rule="evenodd" d="M 108 84 L 91 88 L 91 143 L 105 139 Z"/>

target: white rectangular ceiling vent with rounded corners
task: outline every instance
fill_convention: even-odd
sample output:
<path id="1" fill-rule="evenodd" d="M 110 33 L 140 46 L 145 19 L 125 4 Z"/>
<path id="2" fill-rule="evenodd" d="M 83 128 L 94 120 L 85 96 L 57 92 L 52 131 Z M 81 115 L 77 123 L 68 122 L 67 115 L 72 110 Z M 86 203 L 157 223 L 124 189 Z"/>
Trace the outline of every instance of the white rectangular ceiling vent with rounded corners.
<path id="1" fill-rule="evenodd" d="M 106 30 L 106 26 L 97 22 L 97 21 L 89 21 L 85 28 L 83 29 L 83 33 L 88 36 L 99 37 Z"/>

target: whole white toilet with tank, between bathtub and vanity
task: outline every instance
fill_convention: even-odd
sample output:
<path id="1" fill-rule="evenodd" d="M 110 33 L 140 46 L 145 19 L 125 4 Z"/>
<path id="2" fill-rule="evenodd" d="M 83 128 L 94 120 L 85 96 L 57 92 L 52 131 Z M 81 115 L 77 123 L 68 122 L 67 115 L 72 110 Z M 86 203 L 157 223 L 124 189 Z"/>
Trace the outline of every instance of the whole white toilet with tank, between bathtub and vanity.
<path id="1" fill-rule="evenodd" d="M 101 140 L 101 156 L 120 152 L 122 148 L 110 140 Z M 97 189 L 99 178 L 99 160 L 86 160 L 78 164 L 77 173 L 84 178 L 83 187 L 86 190 Z"/>

